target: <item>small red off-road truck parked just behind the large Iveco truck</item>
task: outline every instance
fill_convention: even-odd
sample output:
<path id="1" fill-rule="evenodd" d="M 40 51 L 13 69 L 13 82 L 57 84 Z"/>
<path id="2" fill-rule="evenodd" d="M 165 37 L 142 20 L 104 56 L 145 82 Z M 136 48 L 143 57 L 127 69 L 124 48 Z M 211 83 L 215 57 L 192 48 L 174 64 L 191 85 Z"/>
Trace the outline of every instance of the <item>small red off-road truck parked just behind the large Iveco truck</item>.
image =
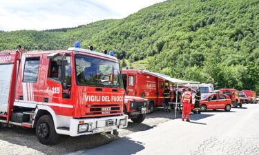
<path id="1" fill-rule="evenodd" d="M 131 118 L 134 123 L 142 123 L 149 112 L 148 100 L 137 96 L 125 96 L 124 98 L 124 114 Z"/>

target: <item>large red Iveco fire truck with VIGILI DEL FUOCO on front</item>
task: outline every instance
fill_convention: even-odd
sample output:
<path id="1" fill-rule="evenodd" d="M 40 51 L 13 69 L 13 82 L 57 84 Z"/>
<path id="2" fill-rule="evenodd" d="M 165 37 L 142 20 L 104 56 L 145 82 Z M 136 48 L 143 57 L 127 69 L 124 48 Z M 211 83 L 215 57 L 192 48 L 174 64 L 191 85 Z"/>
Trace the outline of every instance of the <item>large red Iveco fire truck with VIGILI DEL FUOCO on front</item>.
<path id="1" fill-rule="evenodd" d="M 45 145 L 57 142 L 59 134 L 126 127 L 125 90 L 113 52 L 79 47 L 76 42 L 68 50 L 0 52 L 1 124 L 35 127 Z"/>

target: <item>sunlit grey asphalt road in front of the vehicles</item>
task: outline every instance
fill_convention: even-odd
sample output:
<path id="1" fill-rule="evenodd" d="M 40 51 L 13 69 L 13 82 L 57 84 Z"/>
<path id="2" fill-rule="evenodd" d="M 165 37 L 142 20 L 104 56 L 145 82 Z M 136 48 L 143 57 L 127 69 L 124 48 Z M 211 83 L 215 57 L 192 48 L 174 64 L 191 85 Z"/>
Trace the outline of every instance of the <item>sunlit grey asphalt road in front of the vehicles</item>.
<path id="1" fill-rule="evenodd" d="M 259 154 L 259 104 L 179 118 L 79 154 Z"/>

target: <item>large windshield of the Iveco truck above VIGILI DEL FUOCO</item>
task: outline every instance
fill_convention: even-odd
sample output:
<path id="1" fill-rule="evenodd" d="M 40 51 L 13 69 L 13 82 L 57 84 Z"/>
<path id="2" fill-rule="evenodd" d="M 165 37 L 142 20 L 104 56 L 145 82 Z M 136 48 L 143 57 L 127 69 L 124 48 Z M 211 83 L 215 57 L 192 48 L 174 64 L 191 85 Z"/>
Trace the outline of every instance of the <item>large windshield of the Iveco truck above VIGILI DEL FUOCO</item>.
<path id="1" fill-rule="evenodd" d="M 75 56 L 78 85 L 123 88 L 119 64 L 92 56 Z"/>

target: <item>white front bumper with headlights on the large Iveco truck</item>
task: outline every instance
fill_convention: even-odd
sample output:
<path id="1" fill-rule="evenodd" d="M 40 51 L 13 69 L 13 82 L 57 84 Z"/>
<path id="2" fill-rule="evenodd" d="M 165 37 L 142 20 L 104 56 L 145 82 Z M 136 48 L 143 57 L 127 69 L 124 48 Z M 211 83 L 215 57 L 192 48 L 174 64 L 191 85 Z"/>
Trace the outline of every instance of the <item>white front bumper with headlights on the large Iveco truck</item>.
<path id="1" fill-rule="evenodd" d="M 125 125 L 120 125 L 120 121 L 126 119 Z M 84 123 L 82 123 L 84 122 Z M 80 124 L 88 124 L 86 132 L 79 132 L 78 128 Z M 97 134 L 102 132 L 111 132 L 113 130 L 121 129 L 128 126 L 128 116 L 108 116 L 103 118 L 81 118 L 70 120 L 70 127 L 68 134 L 70 136 L 80 136 L 86 134 Z"/>

